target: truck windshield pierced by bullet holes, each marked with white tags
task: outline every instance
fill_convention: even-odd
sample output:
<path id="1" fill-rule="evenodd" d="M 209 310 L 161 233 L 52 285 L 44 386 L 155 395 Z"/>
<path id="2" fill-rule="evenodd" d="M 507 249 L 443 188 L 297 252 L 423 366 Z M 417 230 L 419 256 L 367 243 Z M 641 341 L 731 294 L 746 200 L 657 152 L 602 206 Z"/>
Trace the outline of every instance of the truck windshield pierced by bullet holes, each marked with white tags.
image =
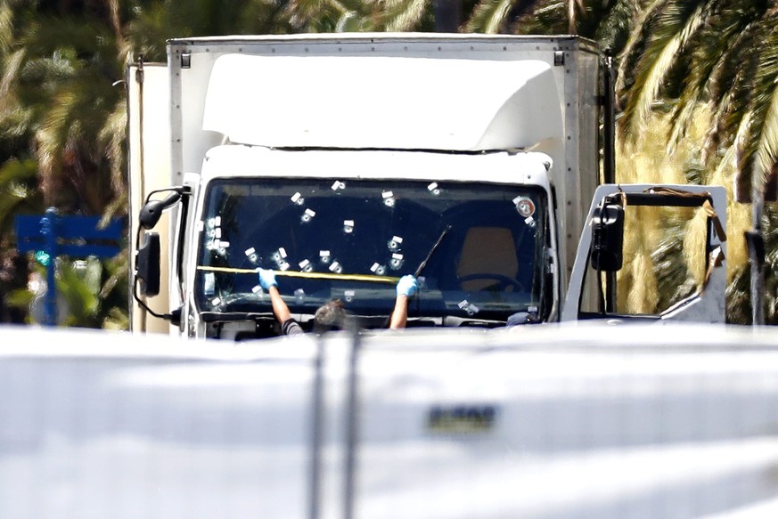
<path id="1" fill-rule="evenodd" d="M 197 304 L 271 312 L 261 267 L 275 271 L 292 312 L 341 299 L 350 312 L 386 315 L 410 273 L 421 285 L 412 318 L 505 320 L 537 309 L 545 234 L 540 191 L 516 186 L 215 181 L 201 220 Z"/>

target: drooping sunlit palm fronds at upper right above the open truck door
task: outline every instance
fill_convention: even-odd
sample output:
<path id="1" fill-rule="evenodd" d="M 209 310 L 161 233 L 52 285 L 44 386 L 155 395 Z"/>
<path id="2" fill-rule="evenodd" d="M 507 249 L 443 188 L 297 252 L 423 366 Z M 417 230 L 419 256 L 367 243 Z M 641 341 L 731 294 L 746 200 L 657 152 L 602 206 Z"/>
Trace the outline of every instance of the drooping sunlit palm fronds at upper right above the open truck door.
<path id="1" fill-rule="evenodd" d="M 619 130 L 625 139 L 641 135 L 651 113 L 665 109 L 673 122 L 666 140 L 672 151 L 700 112 L 709 114 L 700 163 L 709 176 L 732 166 L 733 198 L 752 202 L 757 239 L 765 224 L 764 202 L 778 199 L 776 21 L 778 10 L 761 0 L 658 0 L 635 25 L 618 74 Z M 767 220 L 774 222 L 772 208 Z M 778 243 L 769 241 L 773 237 L 766 234 L 768 263 L 778 253 Z M 752 320 L 759 322 L 762 272 L 755 260 Z M 768 305 L 776 306 L 774 301 Z M 769 320 L 776 320 L 774 312 Z"/>

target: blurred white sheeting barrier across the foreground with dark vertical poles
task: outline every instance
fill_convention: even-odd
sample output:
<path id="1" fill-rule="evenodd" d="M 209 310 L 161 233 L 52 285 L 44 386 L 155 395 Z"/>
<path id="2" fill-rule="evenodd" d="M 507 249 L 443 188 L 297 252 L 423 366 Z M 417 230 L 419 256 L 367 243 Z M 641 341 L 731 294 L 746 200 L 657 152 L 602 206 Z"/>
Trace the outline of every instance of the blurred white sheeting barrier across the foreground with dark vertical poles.
<path id="1" fill-rule="evenodd" d="M 4 517 L 778 513 L 772 329 L 362 337 L 353 480 L 347 335 L 319 350 L 312 336 L 229 345 L 0 333 Z"/>

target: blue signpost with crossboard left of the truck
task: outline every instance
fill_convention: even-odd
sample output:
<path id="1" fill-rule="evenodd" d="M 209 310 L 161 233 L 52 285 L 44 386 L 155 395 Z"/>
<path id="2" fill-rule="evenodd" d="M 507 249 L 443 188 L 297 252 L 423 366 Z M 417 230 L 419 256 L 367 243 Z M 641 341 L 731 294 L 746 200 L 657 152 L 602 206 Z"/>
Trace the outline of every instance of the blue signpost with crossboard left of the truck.
<path id="1" fill-rule="evenodd" d="M 123 225 L 114 219 L 100 229 L 99 216 L 60 216 L 53 207 L 43 216 L 17 216 L 14 220 L 19 252 L 44 251 L 46 265 L 45 322 L 57 322 L 57 296 L 54 271 L 59 255 L 112 257 L 119 254 Z"/>

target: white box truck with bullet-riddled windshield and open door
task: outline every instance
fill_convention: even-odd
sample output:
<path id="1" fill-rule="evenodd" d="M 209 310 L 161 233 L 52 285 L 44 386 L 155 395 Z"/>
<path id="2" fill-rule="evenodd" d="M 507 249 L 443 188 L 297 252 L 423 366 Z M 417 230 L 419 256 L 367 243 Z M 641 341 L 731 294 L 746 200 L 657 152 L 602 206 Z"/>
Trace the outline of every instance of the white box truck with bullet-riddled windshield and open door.
<path id="1" fill-rule="evenodd" d="M 304 327 L 333 298 L 383 327 L 407 273 L 412 327 L 620 317 L 641 205 L 708 211 L 705 282 L 650 317 L 723 321 L 724 189 L 598 188 L 604 63 L 577 36 L 170 40 L 167 66 L 127 74 L 133 328 L 151 312 L 187 337 L 272 337 L 259 267 Z"/>

